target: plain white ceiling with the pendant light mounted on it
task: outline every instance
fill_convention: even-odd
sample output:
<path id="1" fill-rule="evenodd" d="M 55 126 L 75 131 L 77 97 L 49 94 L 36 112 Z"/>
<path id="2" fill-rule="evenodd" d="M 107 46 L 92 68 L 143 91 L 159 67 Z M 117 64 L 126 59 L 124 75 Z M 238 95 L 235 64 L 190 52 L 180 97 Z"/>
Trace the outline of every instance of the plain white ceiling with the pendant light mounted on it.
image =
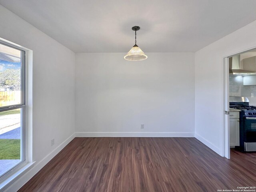
<path id="1" fill-rule="evenodd" d="M 0 0 L 74 52 L 195 52 L 256 20 L 256 0 Z"/>

